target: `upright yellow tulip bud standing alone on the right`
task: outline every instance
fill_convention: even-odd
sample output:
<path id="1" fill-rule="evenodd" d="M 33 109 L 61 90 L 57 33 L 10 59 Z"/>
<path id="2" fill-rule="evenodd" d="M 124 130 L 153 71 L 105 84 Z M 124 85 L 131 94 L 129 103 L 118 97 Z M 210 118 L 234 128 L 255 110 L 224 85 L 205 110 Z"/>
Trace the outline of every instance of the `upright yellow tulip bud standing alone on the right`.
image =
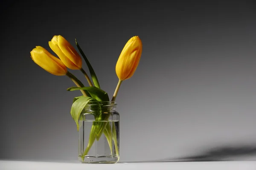
<path id="1" fill-rule="evenodd" d="M 132 77 L 140 62 L 141 53 L 142 42 L 138 36 L 134 36 L 125 44 L 116 62 L 116 75 L 119 80 Z"/>

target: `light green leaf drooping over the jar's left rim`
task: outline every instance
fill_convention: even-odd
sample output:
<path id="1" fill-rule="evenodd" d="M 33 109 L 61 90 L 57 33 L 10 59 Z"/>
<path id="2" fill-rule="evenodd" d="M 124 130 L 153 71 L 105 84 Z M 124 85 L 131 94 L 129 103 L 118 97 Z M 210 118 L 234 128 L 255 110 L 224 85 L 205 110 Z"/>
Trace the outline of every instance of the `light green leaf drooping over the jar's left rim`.
<path id="1" fill-rule="evenodd" d="M 95 100 L 91 97 L 80 97 L 79 99 L 76 99 L 75 102 L 73 102 L 73 105 L 71 106 L 71 116 L 74 119 L 74 121 L 76 122 L 77 125 L 77 130 L 79 130 L 79 117 L 80 114 L 82 112 L 82 110 L 84 109 L 84 107 L 87 105 L 87 103 L 90 100 Z"/>

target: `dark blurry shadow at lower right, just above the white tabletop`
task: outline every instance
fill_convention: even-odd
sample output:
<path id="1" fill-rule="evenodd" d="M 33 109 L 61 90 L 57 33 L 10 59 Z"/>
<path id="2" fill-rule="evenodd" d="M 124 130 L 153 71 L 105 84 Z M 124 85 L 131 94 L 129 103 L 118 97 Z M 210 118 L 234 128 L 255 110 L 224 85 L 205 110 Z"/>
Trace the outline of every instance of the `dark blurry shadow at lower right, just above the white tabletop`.
<path id="1" fill-rule="evenodd" d="M 215 147 L 197 155 L 144 162 L 180 162 L 180 161 L 239 161 L 243 156 L 256 156 L 256 145 L 238 147 Z M 244 159 L 243 159 L 244 160 Z M 246 160 L 246 159 L 245 159 Z M 256 160 L 256 158 L 254 159 Z"/>

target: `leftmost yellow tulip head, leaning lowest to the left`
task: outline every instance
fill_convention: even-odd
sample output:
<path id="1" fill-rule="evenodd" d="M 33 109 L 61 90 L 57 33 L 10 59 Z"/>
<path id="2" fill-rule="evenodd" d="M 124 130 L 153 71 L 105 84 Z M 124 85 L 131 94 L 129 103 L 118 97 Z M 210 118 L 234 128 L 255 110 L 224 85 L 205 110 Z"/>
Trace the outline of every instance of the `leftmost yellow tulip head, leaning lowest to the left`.
<path id="1" fill-rule="evenodd" d="M 67 67 L 60 59 L 54 57 L 45 48 L 36 46 L 31 52 L 32 60 L 44 70 L 56 76 L 64 76 L 67 74 Z"/>

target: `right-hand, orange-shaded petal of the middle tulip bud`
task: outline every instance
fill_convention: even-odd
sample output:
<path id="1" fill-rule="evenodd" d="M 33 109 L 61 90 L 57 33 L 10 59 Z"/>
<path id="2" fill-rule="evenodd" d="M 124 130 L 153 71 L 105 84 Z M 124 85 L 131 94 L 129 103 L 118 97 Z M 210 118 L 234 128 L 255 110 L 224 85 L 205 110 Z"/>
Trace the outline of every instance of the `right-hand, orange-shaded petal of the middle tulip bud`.
<path id="1" fill-rule="evenodd" d="M 81 69 L 82 59 L 75 48 L 61 35 L 58 35 L 58 47 L 73 62 L 77 68 Z"/>

